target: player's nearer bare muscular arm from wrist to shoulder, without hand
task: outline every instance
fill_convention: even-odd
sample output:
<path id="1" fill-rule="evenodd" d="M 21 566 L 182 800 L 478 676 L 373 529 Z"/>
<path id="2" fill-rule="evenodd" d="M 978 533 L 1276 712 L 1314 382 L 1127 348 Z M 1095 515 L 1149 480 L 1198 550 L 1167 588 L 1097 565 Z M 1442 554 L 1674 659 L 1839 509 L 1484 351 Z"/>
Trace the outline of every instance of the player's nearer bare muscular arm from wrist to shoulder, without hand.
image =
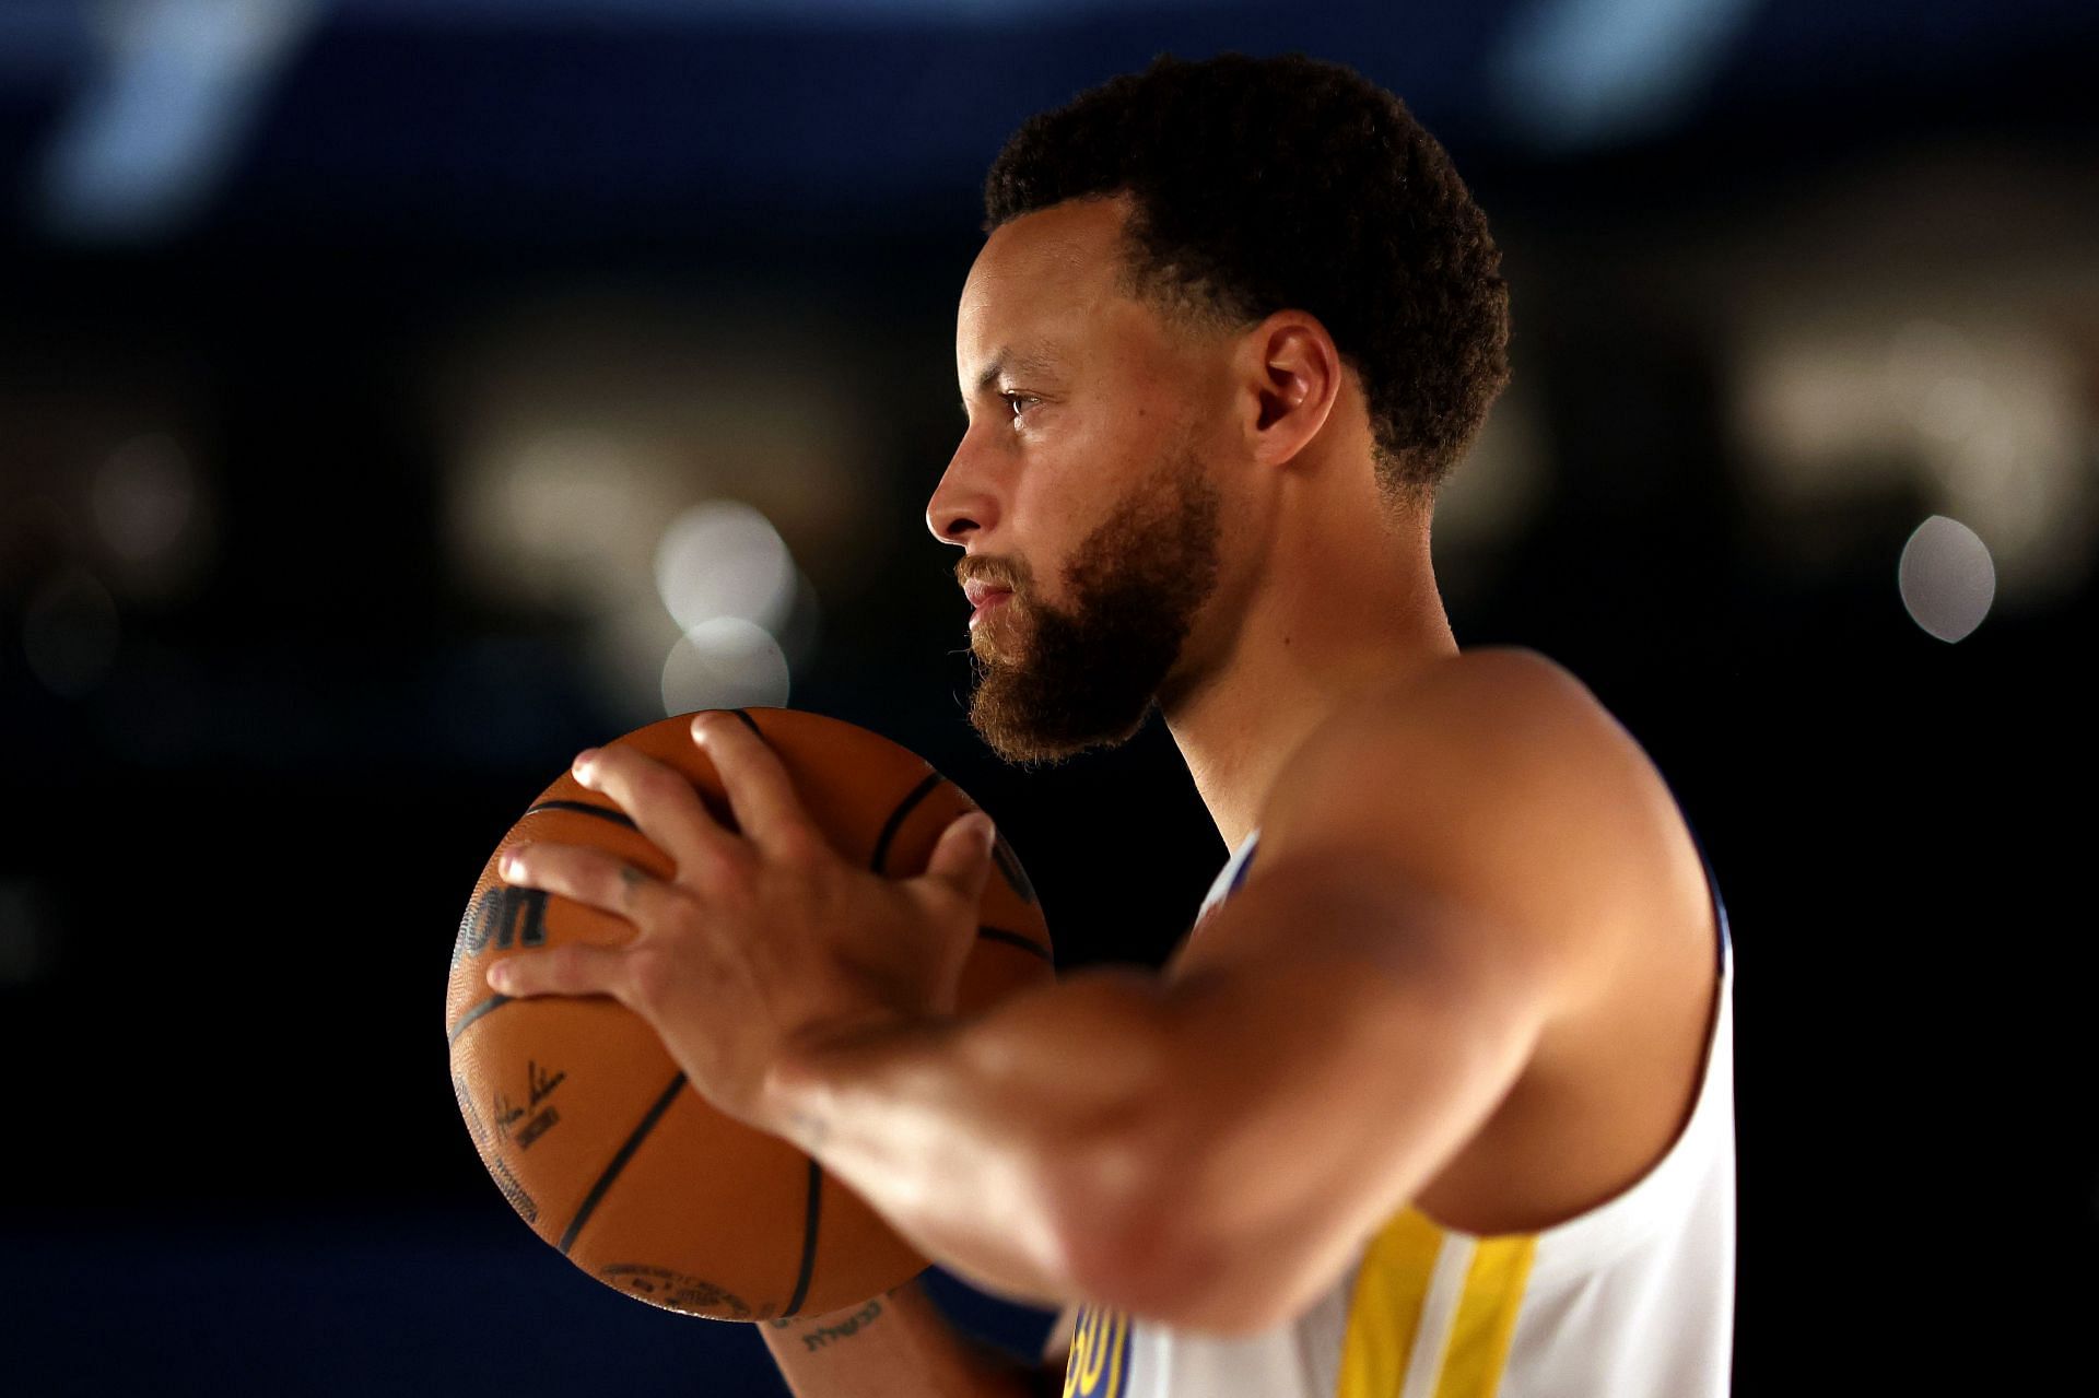
<path id="1" fill-rule="evenodd" d="M 1295 1314 L 1593 993 L 1654 838 L 1557 678 L 1467 684 L 1308 741 L 1169 978 L 789 1058 L 766 1115 L 993 1291 L 1217 1333 Z"/>

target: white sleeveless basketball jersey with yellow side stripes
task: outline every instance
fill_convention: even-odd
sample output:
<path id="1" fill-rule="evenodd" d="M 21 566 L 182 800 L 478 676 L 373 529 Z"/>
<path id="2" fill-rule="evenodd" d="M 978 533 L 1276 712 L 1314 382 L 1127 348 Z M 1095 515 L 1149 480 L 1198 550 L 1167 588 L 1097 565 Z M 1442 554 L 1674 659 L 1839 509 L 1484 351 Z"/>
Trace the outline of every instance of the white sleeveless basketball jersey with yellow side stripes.
<path id="1" fill-rule="evenodd" d="M 1253 863 L 1232 852 L 1201 917 Z M 1696 842 L 1696 835 L 1694 835 Z M 1704 861 L 1704 850 L 1698 852 Z M 1081 1308 L 1066 1398 L 1704 1398 L 1734 1348 L 1734 945 L 1690 1125 L 1654 1169 L 1534 1234 L 1394 1213 L 1308 1312 L 1220 1339 Z"/>

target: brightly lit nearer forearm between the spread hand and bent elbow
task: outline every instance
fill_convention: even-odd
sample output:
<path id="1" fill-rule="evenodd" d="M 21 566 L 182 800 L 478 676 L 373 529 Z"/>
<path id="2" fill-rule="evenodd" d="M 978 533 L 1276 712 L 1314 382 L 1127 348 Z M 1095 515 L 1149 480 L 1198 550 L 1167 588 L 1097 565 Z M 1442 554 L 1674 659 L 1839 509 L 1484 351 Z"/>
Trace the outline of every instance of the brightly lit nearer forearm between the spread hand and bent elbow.
<path id="1" fill-rule="evenodd" d="M 1056 1306 L 1079 1299 L 1077 1226 L 1115 1209 L 1115 1148 L 1163 1064 L 1157 978 L 1089 970 L 974 1020 L 793 1058 L 766 1117 L 928 1257 Z"/>

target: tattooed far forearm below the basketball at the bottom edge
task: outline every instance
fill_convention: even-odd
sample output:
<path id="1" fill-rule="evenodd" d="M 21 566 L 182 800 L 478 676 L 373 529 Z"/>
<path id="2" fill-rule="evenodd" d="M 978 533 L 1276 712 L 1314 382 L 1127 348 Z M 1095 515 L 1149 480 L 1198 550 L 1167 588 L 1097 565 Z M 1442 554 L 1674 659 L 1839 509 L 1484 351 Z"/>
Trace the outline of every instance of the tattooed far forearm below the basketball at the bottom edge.
<path id="1" fill-rule="evenodd" d="M 1031 1398 L 1043 1385 L 1041 1369 L 957 1331 L 917 1278 L 758 1331 L 796 1398 Z"/>

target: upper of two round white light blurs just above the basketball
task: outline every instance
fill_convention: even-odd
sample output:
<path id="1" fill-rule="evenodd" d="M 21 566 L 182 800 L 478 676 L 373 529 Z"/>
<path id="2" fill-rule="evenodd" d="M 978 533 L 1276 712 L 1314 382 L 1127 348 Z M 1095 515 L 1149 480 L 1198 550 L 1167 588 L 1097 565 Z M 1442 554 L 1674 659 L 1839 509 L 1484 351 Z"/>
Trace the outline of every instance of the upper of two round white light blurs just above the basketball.
<path id="1" fill-rule="evenodd" d="M 678 514 L 655 556 L 657 594 L 691 634 L 741 617 L 777 634 L 793 611 L 796 567 L 779 529 L 739 500 L 707 500 Z"/>

